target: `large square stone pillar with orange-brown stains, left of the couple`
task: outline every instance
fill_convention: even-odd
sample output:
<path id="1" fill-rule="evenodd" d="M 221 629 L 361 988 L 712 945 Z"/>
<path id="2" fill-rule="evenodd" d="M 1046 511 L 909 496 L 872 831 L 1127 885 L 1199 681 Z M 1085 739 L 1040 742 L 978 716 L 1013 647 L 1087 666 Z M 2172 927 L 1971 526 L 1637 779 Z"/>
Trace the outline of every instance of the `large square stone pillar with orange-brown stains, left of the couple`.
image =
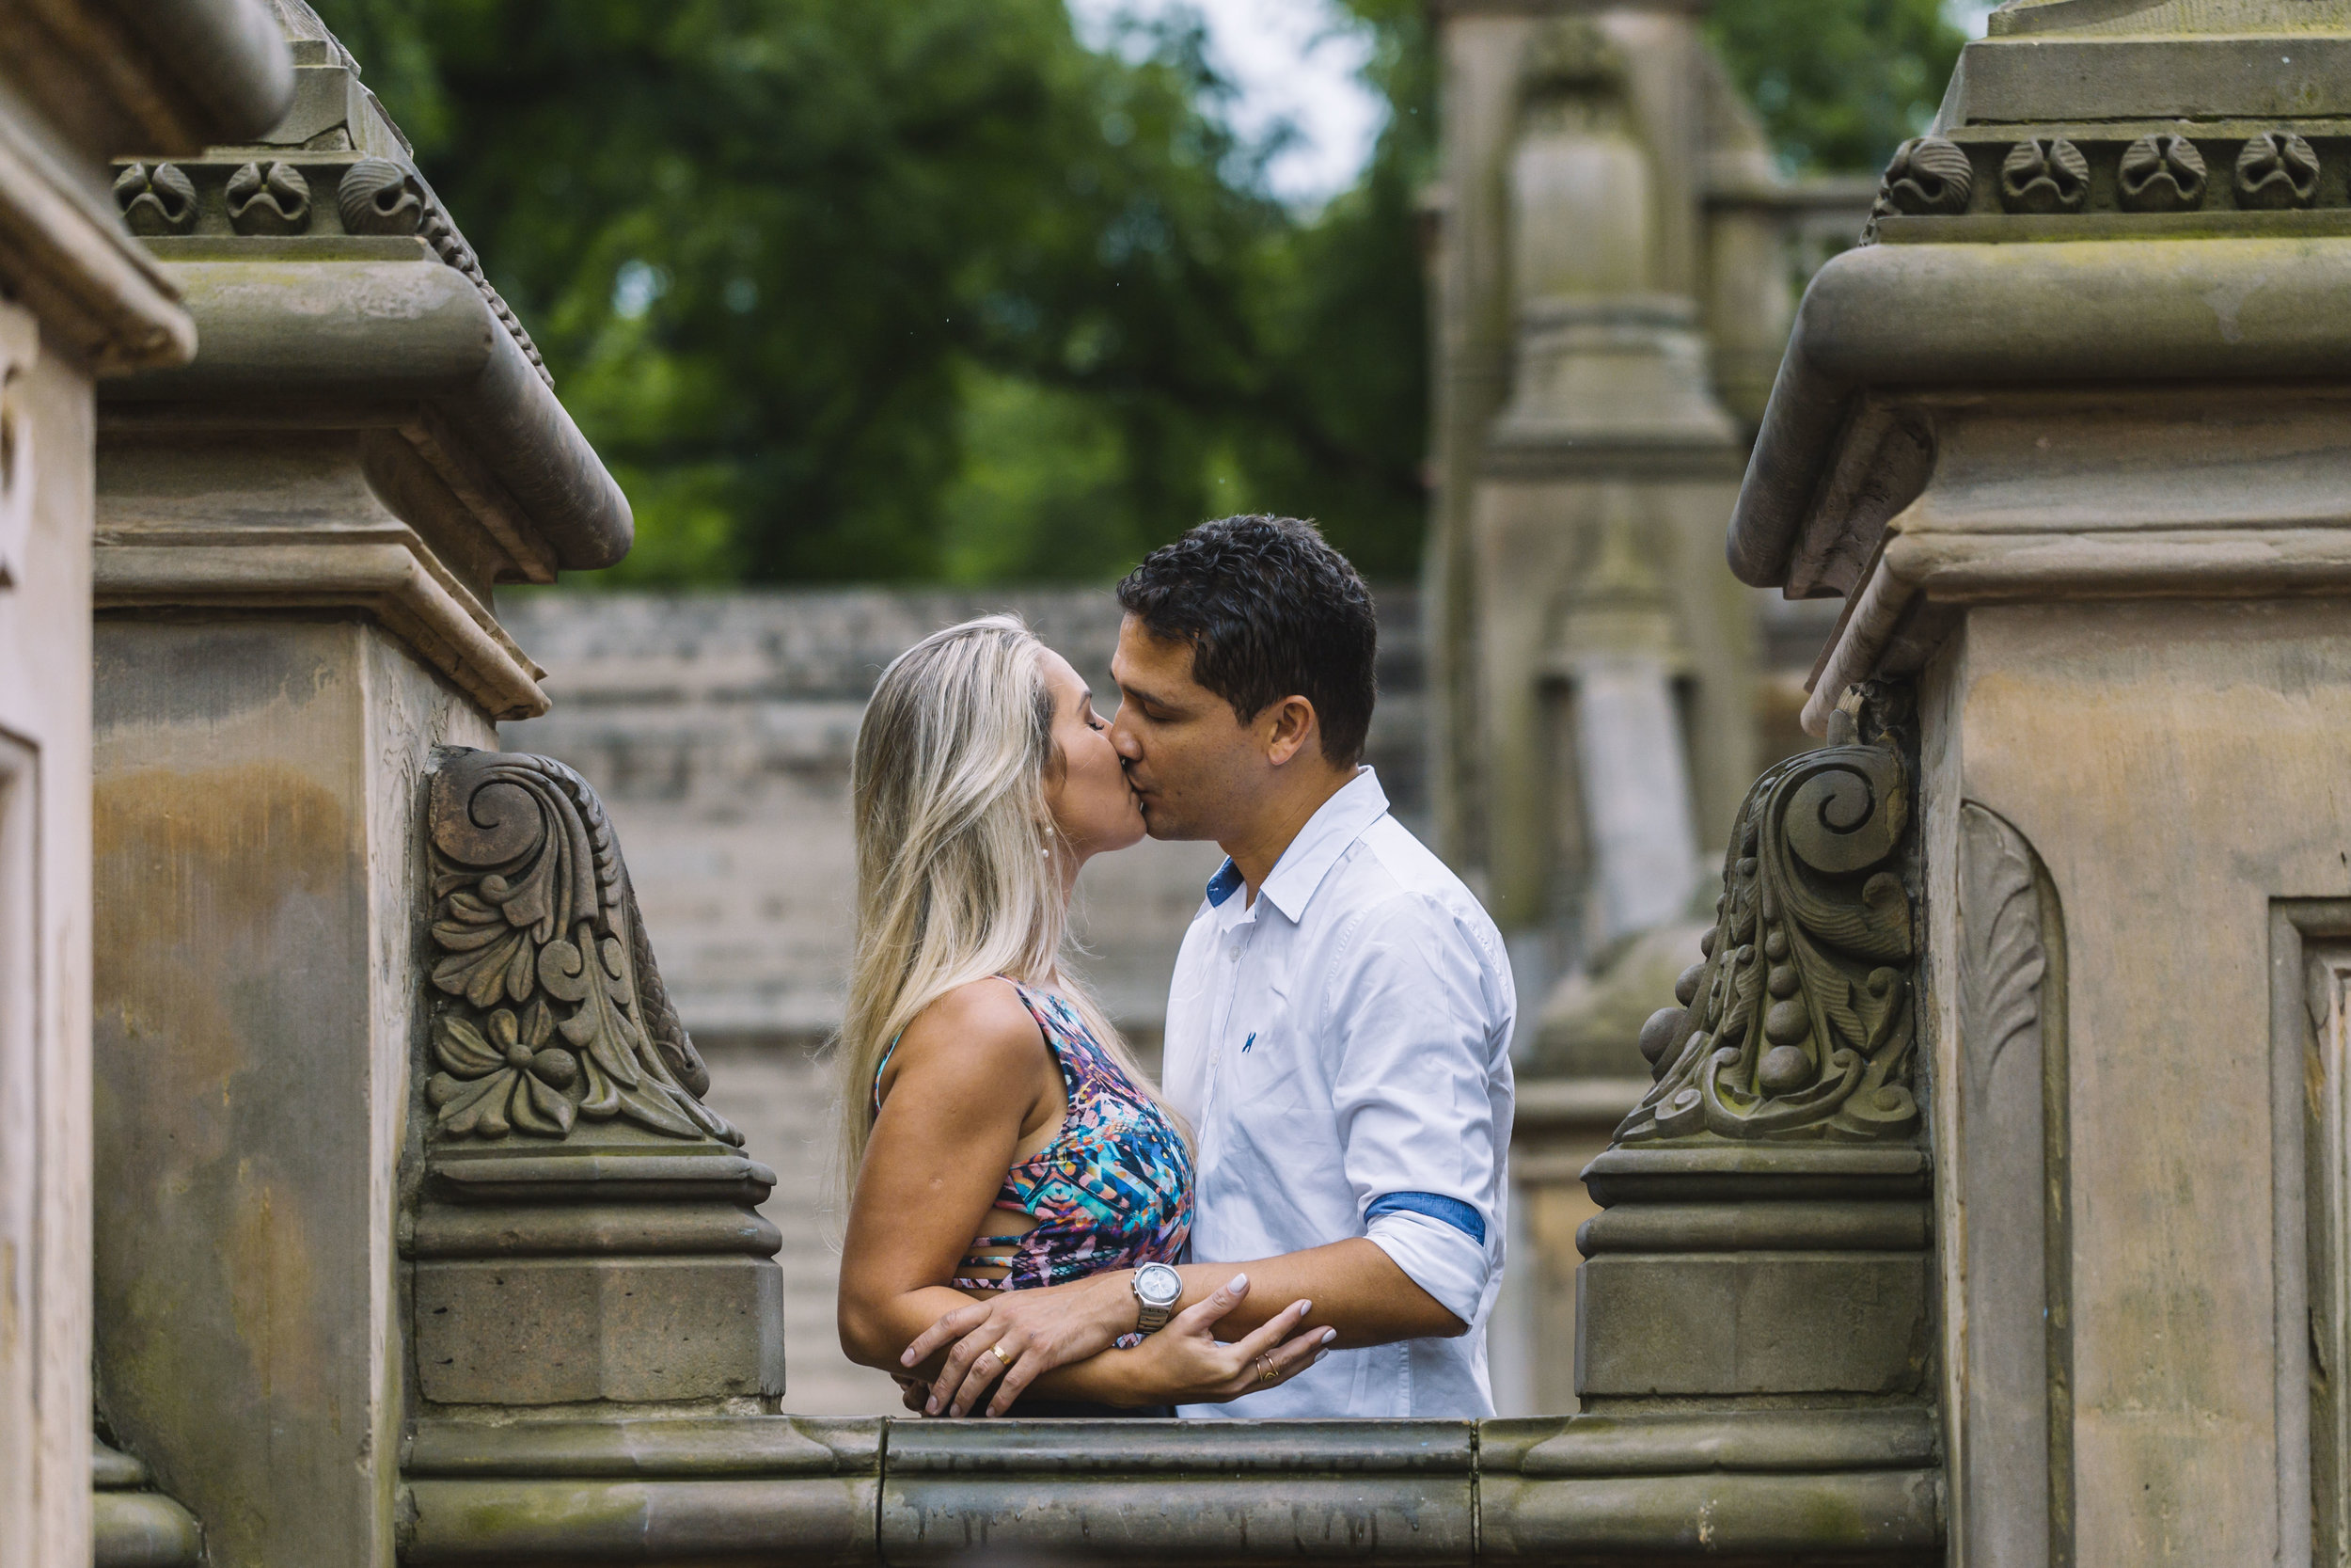
<path id="1" fill-rule="evenodd" d="M 545 705 L 496 585 L 618 559 L 630 517 L 341 47 L 280 12 L 287 115 L 113 183 L 202 346 L 101 402 L 96 1373 L 214 1566 L 357 1568 L 395 1556 L 421 1382 L 426 776 Z M 517 1312 L 510 1349 L 567 1328 Z"/>

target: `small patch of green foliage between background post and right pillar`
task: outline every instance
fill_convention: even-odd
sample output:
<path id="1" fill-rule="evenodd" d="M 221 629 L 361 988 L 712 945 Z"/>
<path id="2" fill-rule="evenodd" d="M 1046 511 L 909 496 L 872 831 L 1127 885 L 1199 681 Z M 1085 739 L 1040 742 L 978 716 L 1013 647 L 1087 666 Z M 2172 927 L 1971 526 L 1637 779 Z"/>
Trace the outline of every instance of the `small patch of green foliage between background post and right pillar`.
<path id="1" fill-rule="evenodd" d="M 1791 169 L 1876 172 L 1965 42 L 1942 0 L 1719 0 L 1707 35 Z"/>

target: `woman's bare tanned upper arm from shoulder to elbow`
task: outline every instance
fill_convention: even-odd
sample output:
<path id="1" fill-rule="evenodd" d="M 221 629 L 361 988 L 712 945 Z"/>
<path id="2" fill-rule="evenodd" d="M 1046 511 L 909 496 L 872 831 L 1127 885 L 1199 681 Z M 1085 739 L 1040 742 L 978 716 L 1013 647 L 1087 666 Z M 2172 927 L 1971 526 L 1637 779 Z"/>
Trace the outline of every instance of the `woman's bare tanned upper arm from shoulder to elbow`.
<path id="1" fill-rule="evenodd" d="M 947 1281 L 1018 1147 L 1058 1112 L 1060 1072 L 1011 985 L 964 985 L 907 1025 L 849 1201 L 837 1316 L 851 1361 L 900 1373 L 915 1335 L 971 1305 Z"/>

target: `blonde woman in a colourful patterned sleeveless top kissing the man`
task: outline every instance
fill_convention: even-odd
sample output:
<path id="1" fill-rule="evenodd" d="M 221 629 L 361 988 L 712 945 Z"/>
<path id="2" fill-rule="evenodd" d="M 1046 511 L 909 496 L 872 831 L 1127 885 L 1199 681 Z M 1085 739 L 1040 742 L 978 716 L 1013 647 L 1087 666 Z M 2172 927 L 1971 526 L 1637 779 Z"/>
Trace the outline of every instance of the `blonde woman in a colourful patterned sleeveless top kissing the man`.
<path id="1" fill-rule="evenodd" d="M 858 729 L 839 1333 L 905 1387 L 945 1352 L 917 1368 L 900 1352 L 973 1295 L 1176 1262 L 1192 1227 L 1185 1135 L 1063 966 L 1079 867 L 1143 837 L 1107 731 L 1077 670 L 1011 616 L 907 649 Z M 1016 1359 L 997 1352 L 992 1392 L 969 1399 L 990 1392 L 987 1415 L 1168 1415 L 1321 1354 L 1326 1333 L 1295 1333 L 1307 1302 L 1218 1345 L 1241 1293 L 1234 1279 L 1018 1401 Z M 952 1413 L 966 1408 L 959 1392 Z"/>

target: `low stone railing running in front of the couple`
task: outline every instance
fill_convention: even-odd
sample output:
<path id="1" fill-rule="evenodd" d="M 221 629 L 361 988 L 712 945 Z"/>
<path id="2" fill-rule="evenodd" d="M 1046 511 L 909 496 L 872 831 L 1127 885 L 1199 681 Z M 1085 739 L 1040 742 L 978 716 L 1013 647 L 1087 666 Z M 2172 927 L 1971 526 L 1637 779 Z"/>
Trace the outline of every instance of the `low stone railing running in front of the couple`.
<path id="1" fill-rule="evenodd" d="M 409 1563 L 1940 1563 L 1928 1408 L 428 1422 Z"/>

